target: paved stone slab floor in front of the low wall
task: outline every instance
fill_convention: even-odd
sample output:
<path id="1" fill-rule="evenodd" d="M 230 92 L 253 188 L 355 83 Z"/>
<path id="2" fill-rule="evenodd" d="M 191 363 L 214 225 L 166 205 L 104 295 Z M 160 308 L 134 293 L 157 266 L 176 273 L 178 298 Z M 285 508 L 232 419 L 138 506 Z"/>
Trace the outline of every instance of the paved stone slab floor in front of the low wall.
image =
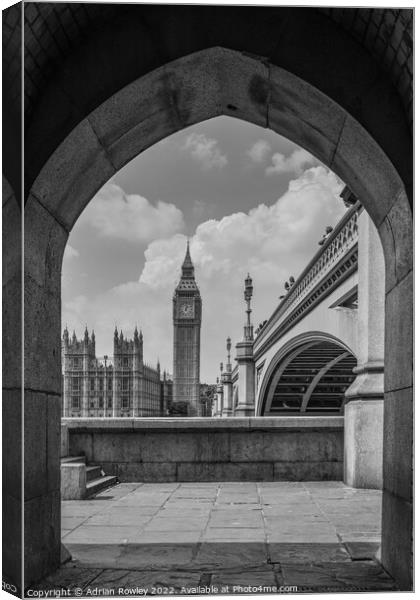
<path id="1" fill-rule="evenodd" d="M 341 482 L 119 484 L 62 503 L 71 595 L 395 590 L 381 492 Z M 296 586 L 296 587 L 294 587 Z"/>

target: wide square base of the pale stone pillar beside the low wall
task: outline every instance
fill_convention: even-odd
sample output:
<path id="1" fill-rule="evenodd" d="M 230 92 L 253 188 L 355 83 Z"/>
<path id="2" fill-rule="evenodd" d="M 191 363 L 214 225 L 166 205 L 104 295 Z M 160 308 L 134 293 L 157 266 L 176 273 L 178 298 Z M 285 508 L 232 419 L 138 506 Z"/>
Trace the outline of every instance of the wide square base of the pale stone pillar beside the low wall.
<path id="1" fill-rule="evenodd" d="M 344 407 L 344 483 L 380 490 L 383 483 L 384 401 L 349 400 Z"/>

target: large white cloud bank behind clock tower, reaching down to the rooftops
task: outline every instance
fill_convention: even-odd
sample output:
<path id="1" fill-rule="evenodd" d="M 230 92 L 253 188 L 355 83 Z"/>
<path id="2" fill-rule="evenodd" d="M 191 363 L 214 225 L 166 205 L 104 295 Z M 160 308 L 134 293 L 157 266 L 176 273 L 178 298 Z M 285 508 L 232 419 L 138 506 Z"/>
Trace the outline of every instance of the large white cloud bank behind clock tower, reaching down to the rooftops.
<path id="1" fill-rule="evenodd" d="M 196 228 L 190 248 L 203 300 L 202 381 L 213 382 L 218 375 L 226 337 L 234 345 L 242 337 L 248 271 L 254 280 L 252 320 L 257 326 L 276 307 L 284 281 L 297 277 L 318 250 L 325 226 L 337 223 L 345 212 L 339 198 L 343 186 L 325 167 L 312 167 L 290 181 L 272 205 L 210 219 Z M 78 297 L 67 302 L 63 323 L 77 325 L 80 333 L 85 322 L 94 327 L 98 355 L 112 353 L 115 323 L 130 336 L 137 323 L 143 328 L 145 359 L 155 364 L 159 356 L 162 368 L 172 371 L 172 294 L 185 249 L 186 236 L 179 232 L 150 242 L 138 281 L 89 301 Z"/>

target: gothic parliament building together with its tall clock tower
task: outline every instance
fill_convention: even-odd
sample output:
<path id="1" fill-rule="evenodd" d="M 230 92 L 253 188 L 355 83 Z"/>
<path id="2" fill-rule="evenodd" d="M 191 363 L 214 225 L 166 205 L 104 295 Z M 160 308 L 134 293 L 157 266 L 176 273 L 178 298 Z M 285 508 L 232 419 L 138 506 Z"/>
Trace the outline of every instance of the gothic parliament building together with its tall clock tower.
<path id="1" fill-rule="evenodd" d="M 173 295 L 173 379 L 143 359 L 143 334 L 114 331 L 113 357 L 96 357 L 95 334 L 62 338 L 63 417 L 200 416 L 201 297 L 189 244 Z"/>

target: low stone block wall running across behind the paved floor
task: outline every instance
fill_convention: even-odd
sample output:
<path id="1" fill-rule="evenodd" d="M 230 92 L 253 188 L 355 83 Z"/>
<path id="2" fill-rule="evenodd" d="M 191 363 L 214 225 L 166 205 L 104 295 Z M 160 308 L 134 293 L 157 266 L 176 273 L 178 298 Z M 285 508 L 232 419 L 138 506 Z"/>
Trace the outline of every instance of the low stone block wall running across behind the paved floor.
<path id="1" fill-rule="evenodd" d="M 70 455 L 120 481 L 342 480 L 342 417 L 66 419 Z"/>

